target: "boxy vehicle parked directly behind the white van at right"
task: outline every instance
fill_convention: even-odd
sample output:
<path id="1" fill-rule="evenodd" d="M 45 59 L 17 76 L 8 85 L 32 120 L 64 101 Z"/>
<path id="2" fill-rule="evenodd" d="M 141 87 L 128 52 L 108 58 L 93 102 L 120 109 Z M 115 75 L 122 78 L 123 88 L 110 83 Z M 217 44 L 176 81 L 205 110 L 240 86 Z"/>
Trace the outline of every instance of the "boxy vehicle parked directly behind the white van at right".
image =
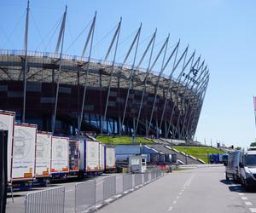
<path id="1" fill-rule="evenodd" d="M 229 153 L 228 164 L 226 165 L 226 180 L 233 179 L 235 181 L 240 180 L 239 176 L 239 159 L 240 151 Z"/>

